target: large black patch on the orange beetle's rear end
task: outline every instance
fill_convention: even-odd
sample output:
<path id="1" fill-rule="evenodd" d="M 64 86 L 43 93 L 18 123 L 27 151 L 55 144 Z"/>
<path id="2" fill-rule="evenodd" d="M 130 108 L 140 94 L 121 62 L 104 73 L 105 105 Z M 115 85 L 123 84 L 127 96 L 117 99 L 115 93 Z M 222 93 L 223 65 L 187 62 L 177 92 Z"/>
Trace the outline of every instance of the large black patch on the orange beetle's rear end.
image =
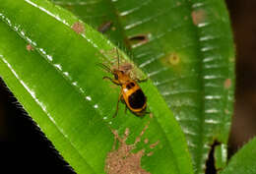
<path id="1" fill-rule="evenodd" d="M 142 89 L 139 88 L 136 91 L 134 91 L 129 97 L 128 97 L 129 105 L 133 109 L 140 109 L 143 108 L 143 106 L 146 103 L 146 96 L 143 93 Z"/>

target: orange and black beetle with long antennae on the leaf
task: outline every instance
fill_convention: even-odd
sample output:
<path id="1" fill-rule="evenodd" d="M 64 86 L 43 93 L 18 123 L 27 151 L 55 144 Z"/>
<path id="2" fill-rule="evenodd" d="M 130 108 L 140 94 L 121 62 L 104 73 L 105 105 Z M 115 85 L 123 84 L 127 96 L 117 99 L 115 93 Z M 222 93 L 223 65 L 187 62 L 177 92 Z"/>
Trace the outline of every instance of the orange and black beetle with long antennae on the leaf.
<path id="1" fill-rule="evenodd" d="M 117 51 L 117 49 L 116 49 Z M 126 104 L 125 111 L 127 107 L 137 116 L 144 116 L 147 108 L 147 97 L 145 96 L 142 88 L 138 83 L 145 82 L 145 80 L 132 79 L 129 73 L 126 73 L 124 70 L 119 68 L 119 54 L 117 51 L 118 66 L 117 68 L 110 69 L 104 64 L 100 64 L 101 67 L 106 70 L 108 73 L 111 73 L 114 78 L 103 77 L 103 79 L 110 80 L 113 84 L 120 86 L 121 91 L 118 96 L 118 101 L 116 104 L 116 110 L 113 115 L 115 117 L 118 112 L 119 101 L 124 101 Z"/>

